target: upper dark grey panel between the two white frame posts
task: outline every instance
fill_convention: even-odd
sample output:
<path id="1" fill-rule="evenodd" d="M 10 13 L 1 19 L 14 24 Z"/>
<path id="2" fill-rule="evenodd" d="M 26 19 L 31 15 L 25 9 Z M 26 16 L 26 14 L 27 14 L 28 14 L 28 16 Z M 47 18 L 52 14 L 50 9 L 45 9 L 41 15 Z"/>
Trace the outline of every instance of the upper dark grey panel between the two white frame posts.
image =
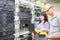
<path id="1" fill-rule="evenodd" d="M 20 11 L 18 15 L 19 15 L 19 18 L 28 18 L 28 19 L 32 18 L 31 9 L 26 8 L 24 6 L 20 7 Z"/>

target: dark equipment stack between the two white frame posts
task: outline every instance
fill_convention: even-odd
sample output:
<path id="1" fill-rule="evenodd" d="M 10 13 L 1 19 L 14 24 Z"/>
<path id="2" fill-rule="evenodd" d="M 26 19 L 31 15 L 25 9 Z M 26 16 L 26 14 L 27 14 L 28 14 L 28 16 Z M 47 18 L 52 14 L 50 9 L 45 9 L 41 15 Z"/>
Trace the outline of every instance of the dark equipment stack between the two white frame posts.
<path id="1" fill-rule="evenodd" d="M 32 14 L 31 9 L 27 8 L 25 5 L 20 6 L 19 11 L 19 19 L 20 19 L 20 29 L 27 28 L 30 32 L 32 32 L 33 24 L 31 24 Z"/>

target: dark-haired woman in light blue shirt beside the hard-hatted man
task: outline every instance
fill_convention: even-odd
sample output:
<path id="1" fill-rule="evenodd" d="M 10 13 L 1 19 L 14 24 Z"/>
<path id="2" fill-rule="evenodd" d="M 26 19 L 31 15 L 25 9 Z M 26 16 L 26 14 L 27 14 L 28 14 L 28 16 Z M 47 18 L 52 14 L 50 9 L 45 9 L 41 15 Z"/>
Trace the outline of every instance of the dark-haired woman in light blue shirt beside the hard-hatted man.
<path id="1" fill-rule="evenodd" d="M 39 18 L 40 18 L 40 21 L 37 24 L 36 28 L 38 28 L 38 29 L 46 32 L 46 34 L 48 34 L 49 23 L 48 23 L 48 19 L 47 19 L 47 16 L 46 16 L 45 12 L 42 12 L 40 14 Z M 46 39 L 45 37 L 40 36 L 40 34 L 36 33 L 35 34 L 35 40 L 48 40 L 48 39 Z"/>

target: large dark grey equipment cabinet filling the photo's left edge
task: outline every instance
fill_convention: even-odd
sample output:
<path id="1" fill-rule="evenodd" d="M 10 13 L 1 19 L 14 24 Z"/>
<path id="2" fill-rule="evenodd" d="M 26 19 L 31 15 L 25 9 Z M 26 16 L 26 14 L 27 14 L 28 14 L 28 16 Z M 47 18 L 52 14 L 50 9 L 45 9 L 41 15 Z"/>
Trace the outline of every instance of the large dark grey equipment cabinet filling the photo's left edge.
<path id="1" fill-rule="evenodd" d="M 0 40 L 14 40 L 14 0 L 0 0 Z"/>

